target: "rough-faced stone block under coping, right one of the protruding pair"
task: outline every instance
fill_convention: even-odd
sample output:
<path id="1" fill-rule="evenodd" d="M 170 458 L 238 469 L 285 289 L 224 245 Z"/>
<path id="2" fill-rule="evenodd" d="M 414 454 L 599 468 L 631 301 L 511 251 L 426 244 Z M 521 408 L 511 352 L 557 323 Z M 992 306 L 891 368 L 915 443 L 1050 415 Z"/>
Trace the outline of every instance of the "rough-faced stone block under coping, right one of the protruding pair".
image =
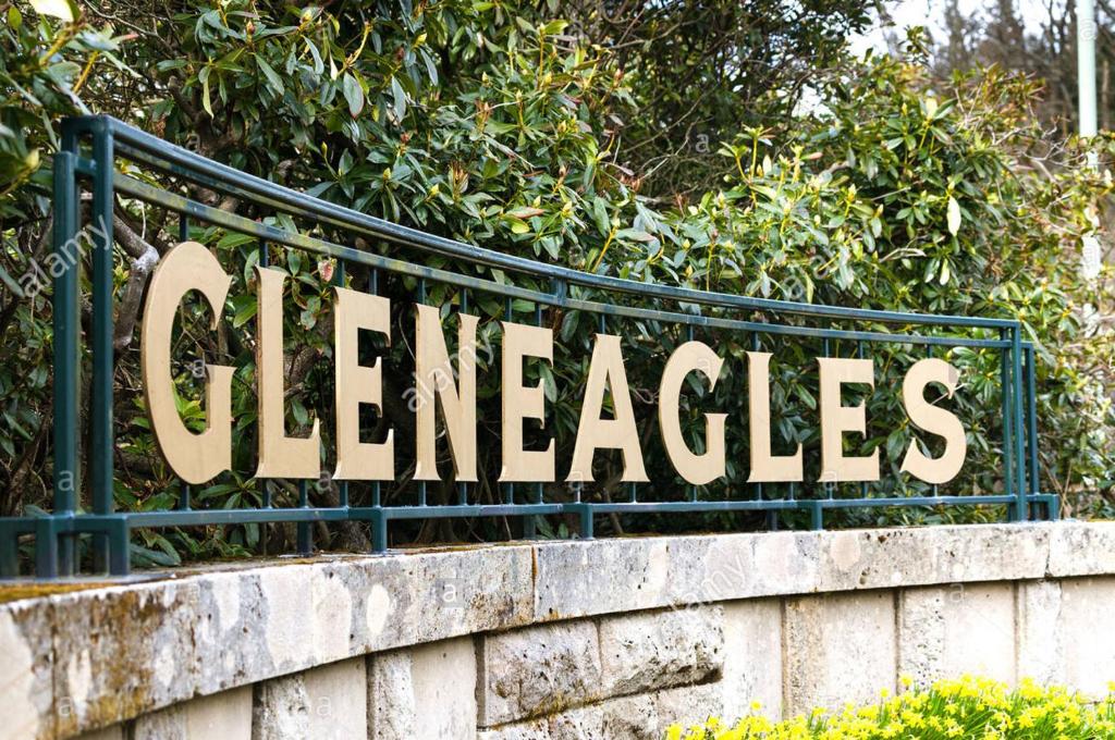
<path id="1" fill-rule="evenodd" d="M 724 610 L 641 612 L 600 621 L 601 697 L 644 693 L 719 678 Z"/>

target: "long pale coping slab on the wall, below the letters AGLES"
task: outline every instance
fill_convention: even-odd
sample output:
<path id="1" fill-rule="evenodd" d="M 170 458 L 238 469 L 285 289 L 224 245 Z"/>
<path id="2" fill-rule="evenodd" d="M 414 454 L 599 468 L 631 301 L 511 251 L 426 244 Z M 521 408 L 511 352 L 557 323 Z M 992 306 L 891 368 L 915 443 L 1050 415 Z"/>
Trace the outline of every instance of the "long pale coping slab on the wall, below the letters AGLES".
<path id="1" fill-rule="evenodd" d="M 1041 578 L 1057 526 L 553 543 L 536 553 L 534 615 L 573 619 L 759 596 Z"/>

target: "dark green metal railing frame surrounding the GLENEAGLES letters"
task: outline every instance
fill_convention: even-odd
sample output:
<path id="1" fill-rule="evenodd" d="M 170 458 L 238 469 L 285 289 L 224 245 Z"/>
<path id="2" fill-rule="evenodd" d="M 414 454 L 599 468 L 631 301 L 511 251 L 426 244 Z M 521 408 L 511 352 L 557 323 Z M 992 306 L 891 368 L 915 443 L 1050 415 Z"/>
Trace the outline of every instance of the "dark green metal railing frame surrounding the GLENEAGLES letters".
<path id="1" fill-rule="evenodd" d="M 352 238 L 386 242 L 410 251 L 419 259 L 387 256 L 358 250 L 326 238 L 281 228 L 190 199 L 149 182 L 119 172 L 118 160 L 128 160 L 145 173 L 155 173 L 176 182 L 188 182 L 233 196 L 242 204 L 316 224 Z M 546 265 L 518 256 L 502 254 L 471 244 L 424 233 L 323 199 L 311 197 L 274 183 L 212 162 L 187 149 L 173 146 L 149 134 L 110 117 L 81 117 L 65 121 L 61 150 L 54 158 L 54 250 L 65 265 L 54 282 L 54 502 L 49 514 L 0 519 L 0 576 L 18 573 L 20 537 L 32 537 L 35 573 L 40 577 L 71 575 L 78 571 L 76 542 L 90 536 L 94 568 L 112 574 L 129 569 L 130 530 L 140 527 L 192 527 L 206 525 L 294 523 L 298 548 L 312 549 L 311 524 L 361 522 L 370 527 L 374 551 L 388 545 L 388 524 L 401 519 L 437 517 L 523 517 L 533 523 L 539 515 L 570 514 L 580 523 L 580 535 L 591 537 L 593 518 L 601 514 L 734 512 L 778 513 L 799 510 L 808 514 L 814 528 L 824 525 L 825 512 L 859 507 L 932 507 L 1005 505 L 1008 517 L 1025 520 L 1039 513 L 1057 517 L 1057 498 L 1038 488 L 1037 417 L 1035 409 L 1035 352 L 1021 339 L 1017 321 L 975 317 L 911 314 L 890 311 L 814 305 L 765 300 L 741 295 L 704 292 L 665 284 L 646 284 L 618 278 L 591 274 Z M 91 322 L 87 334 L 90 360 L 87 442 L 79 440 L 79 373 L 83 330 L 80 324 L 79 272 L 83 257 L 75 245 L 81 231 L 81 189 L 91 192 L 88 213 L 91 230 L 90 299 Z M 350 499 L 347 484 L 341 484 L 338 506 L 311 506 L 308 483 L 298 481 L 298 506 L 273 504 L 266 481 L 262 505 L 254 508 L 206 509 L 192 505 L 191 489 L 183 486 L 178 506 L 167 510 L 118 512 L 114 503 L 114 237 L 113 215 L 117 197 L 144 203 L 176 213 L 181 235 L 190 224 L 207 224 L 259 241 L 260 261 L 266 264 L 268 245 L 301 250 L 338 261 L 343 281 L 348 269 L 370 271 L 370 291 L 378 290 L 380 275 L 396 275 L 416 281 L 419 301 L 428 283 L 440 283 L 462 291 L 460 310 L 468 311 L 471 294 L 500 296 L 506 302 L 534 306 L 534 321 L 541 324 L 543 311 L 588 312 L 609 321 L 659 322 L 694 331 L 737 332 L 750 338 L 757 348 L 760 337 L 795 338 L 854 345 L 862 356 L 865 345 L 892 343 L 941 348 L 977 348 L 1001 356 L 1002 478 L 1001 493 L 978 496 L 933 495 L 871 496 L 866 485 L 855 497 L 836 497 L 832 487 L 822 496 L 798 495 L 794 486 L 780 495 L 773 487 L 748 484 L 747 496 L 717 500 L 699 498 L 690 491 L 681 500 L 642 500 L 637 486 L 630 486 L 624 500 L 590 500 L 576 490 L 573 500 L 547 500 L 541 484 L 505 486 L 503 500 L 478 503 L 469 497 L 468 486 L 457 485 L 453 503 L 429 504 L 425 484 L 419 485 L 417 503 L 389 503 L 372 483 L 370 496 L 361 504 Z M 425 259 L 421 259 L 425 255 Z M 439 265 L 467 266 L 468 270 Z M 482 269 L 497 270 L 506 278 L 497 281 L 478 276 Z M 473 274 L 469 274 L 472 272 Z M 549 290 L 532 285 L 549 285 Z M 698 306 L 695 312 L 691 306 Z M 740 318 L 745 317 L 745 318 Z M 830 322 L 844 325 L 804 325 L 788 323 Z M 881 331 L 880 327 L 901 331 Z M 908 331 L 911 328 L 933 333 Z M 966 333 L 967 332 L 967 333 Z M 83 450 L 83 447 L 85 449 Z M 83 459 L 88 466 L 83 466 Z M 87 485 L 80 483 L 88 470 Z M 88 491 L 88 506 L 81 491 Z M 551 497 L 553 498 L 553 497 Z M 529 528 L 526 529 L 529 532 Z"/>

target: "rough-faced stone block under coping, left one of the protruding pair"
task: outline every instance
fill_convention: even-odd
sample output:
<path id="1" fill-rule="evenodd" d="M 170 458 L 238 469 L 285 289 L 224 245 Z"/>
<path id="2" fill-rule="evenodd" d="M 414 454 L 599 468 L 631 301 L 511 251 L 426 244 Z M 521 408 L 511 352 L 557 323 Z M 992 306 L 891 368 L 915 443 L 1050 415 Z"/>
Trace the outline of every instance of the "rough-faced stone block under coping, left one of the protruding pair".
<path id="1" fill-rule="evenodd" d="M 478 655 L 484 727 L 576 707 L 600 692 L 600 642 L 588 620 L 484 635 Z"/>

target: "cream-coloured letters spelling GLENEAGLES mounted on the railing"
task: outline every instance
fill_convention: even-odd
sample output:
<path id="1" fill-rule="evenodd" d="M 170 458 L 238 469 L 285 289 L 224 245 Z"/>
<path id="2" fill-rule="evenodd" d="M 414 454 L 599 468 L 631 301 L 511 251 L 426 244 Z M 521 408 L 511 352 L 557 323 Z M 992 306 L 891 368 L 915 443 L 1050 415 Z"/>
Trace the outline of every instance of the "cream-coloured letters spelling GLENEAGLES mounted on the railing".
<path id="1" fill-rule="evenodd" d="M 287 273 L 256 267 L 256 381 L 259 395 L 259 467 L 261 478 L 317 478 L 320 475 L 319 422 L 308 437 L 287 435 L 283 412 L 282 295 Z M 146 299 L 143 319 L 143 382 L 156 439 L 167 463 L 185 481 L 205 483 L 232 466 L 232 376 L 233 368 L 209 366 L 205 392 L 204 431 L 192 432 L 183 423 L 175 405 L 172 379 L 171 335 L 183 296 L 197 291 L 213 311 L 213 328 L 232 279 L 216 257 L 201 244 L 184 242 L 158 264 Z M 382 411 L 382 367 L 379 360 L 361 366 L 357 357 L 361 330 L 378 332 L 385 342 L 390 337 L 390 301 L 345 288 L 336 288 L 333 303 L 333 357 L 336 371 L 336 439 L 339 480 L 391 480 L 396 460 L 394 432 L 382 442 L 360 440 L 361 403 Z M 440 311 L 417 305 L 416 379 L 423 388 L 436 392 L 449 451 L 458 481 L 475 481 L 476 470 L 476 328 L 478 319 L 457 315 L 456 381 L 443 334 Z M 545 396 L 541 384 L 523 384 L 523 364 L 527 358 L 553 362 L 553 331 L 510 321 L 502 322 L 502 447 L 501 481 L 550 483 L 556 479 L 554 444 L 549 449 L 523 448 L 523 423 L 545 418 Z M 750 429 L 749 483 L 804 480 L 802 447 L 793 455 L 774 455 L 770 449 L 770 354 L 747 353 L 748 417 Z M 870 359 L 817 358 L 820 371 L 818 416 L 821 425 L 821 465 L 823 481 L 870 481 L 879 479 L 879 450 L 870 456 L 844 454 L 846 432 L 864 434 L 864 405 L 844 406 L 845 383 L 874 384 L 874 364 Z M 702 485 L 725 475 L 725 425 L 727 413 L 705 415 L 705 451 L 694 452 L 681 434 L 679 398 L 689 373 L 699 373 L 715 387 L 724 364 L 712 348 L 699 341 L 678 347 L 662 368 L 658 396 L 658 423 L 670 463 L 691 484 Z M 925 388 L 940 383 L 952 397 L 958 372 L 948 362 L 929 358 L 915 362 L 902 382 L 902 398 L 910 420 L 923 431 L 944 441 L 940 457 L 929 457 L 911 441 L 902 470 L 930 484 L 943 484 L 959 471 L 967 454 L 964 430 L 952 412 L 929 403 Z M 612 418 L 603 417 L 607 390 L 613 399 Z M 436 420 L 437 403 L 423 402 L 416 410 L 416 480 L 437 480 Z M 623 367 L 620 338 L 597 334 L 589 377 L 584 386 L 580 425 L 566 479 L 591 481 L 592 457 L 598 449 L 618 449 L 623 458 L 624 481 L 647 481 L 642 450 L 636 428 L 634 411 Z"/>

